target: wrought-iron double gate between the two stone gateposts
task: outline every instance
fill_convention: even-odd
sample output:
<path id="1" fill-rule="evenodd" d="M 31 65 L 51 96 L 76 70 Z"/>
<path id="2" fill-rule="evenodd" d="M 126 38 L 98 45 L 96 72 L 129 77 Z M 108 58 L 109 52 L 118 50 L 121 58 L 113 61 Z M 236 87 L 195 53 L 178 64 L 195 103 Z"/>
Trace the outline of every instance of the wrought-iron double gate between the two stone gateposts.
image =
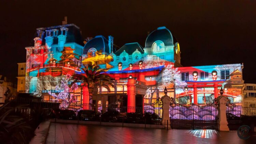
<path id="1" fill-rule="evenodd" d="M 184 106 L 171 98 L 170 107 L 172 129 L 217 129 L 216 99 L 204 106 Z"/>

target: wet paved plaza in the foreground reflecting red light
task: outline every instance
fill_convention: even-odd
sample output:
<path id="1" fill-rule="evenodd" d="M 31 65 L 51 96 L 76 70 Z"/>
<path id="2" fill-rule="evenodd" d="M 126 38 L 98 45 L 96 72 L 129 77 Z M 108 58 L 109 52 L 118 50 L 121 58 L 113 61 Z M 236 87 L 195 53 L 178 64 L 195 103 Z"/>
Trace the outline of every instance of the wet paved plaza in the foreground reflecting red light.
<path id="1" fill-rule="evenodd" d="M 47 144 L 250 144 L 237 131 L 144 129 L 98 125 L 52 123 Z"/>

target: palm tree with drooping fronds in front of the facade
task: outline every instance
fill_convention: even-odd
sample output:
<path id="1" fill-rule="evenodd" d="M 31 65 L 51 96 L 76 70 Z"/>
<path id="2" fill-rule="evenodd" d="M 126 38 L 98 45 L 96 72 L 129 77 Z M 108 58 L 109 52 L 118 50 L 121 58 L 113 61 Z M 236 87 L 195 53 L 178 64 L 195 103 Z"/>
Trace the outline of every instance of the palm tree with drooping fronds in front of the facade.
<path id="1" fill-rule="evenodd" d="M 70 86 L 77 82 L 82 82 L 85 86 L 87 86 L 89 91 L 90 103 L 92 103 L 91 100 L 93 98 L 94 87 L 104 87 L 108 91 L 110 91 L 109 85 L 114 87 L 114 85 L 110 82 L 111 77 L 105 74 L 100 66 L 88 64 L 88 68 L 85 67 L 82 68 L 82 70 L 85 74 L 74 74 L 69 80 L 72 82 Z"/>

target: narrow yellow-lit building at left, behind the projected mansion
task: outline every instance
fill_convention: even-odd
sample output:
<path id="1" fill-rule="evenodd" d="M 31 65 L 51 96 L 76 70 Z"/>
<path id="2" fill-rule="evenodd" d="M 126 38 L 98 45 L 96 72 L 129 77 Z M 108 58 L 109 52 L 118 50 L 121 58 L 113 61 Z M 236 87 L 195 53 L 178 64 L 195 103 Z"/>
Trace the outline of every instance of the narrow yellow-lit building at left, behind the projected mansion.
<path id="1" fill-rule="evenodd" d="M 26 62 L 18 63 L 18 82 L 17 82 L 17 92 L 25 92 L 25 81 L 26 81 Z"/>

